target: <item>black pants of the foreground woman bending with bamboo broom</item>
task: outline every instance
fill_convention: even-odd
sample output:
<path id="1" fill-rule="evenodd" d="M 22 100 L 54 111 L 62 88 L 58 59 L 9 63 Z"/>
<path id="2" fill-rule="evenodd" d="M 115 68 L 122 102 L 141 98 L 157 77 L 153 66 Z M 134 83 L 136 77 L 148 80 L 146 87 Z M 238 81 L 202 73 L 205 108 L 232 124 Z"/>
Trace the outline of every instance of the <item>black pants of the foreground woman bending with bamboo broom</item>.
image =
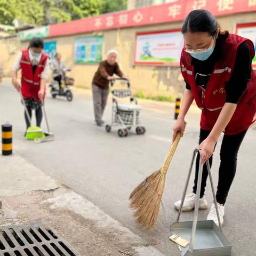
<path id="1" fill-rule="evenodd" d="M 200 130 L 199 135 L 199 144 L 203 142 L 211 131 Z M 234 180 L 236 174 L 236 162 L 237 162 L 237 153 L 239 147 L 244 139 L 244 135 L 247 130 L 235 134 L 235 135 L 224 135 L 221 149 L 220 149 L 220 167 L 219 167 L 219 182 L 217 188 L 216 199 L 220 204 L 225 204 L 228 196 L 229 189 Z M 199 155 L 196 158 L 196 174 L 194 180 L 193 193 L 196 194 L 197 188 L 197 178 L 199 170 Z M 209 158 L 210 165 L 212 166 L 212 156 Z M 204 196 L 204 191 L 206 187 L 206 180 L 208 177 L 206 164 L 203 166 L 203 176 L 202 176 L 202 187 L 200 197 Z"/>

